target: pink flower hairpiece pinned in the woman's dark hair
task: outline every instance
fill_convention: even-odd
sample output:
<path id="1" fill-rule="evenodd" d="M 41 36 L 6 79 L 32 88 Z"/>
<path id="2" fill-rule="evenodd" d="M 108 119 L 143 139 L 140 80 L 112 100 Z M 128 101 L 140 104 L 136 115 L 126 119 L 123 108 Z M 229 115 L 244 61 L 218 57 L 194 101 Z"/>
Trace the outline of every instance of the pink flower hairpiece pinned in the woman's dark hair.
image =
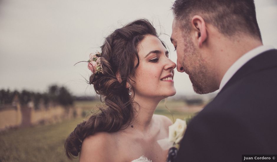
<path id="1" fill-rule="evenodd" d="M 93 74 L 97 74 L 97 73 L 103 73 L 102 70 L 102 64 L 101 64 L 101 57 L 100 57 L 101 53 L 100 52 L 96 52 L 96 53 L 91 53 L 90 54 L 90 59 L 88 61 L 80 61 L 80 62 L 88 62 L 88 69 L 93 73 Z M 77 62 L 76 64 L 78 64 L 79 62 Z M 75 65 L 76 65 L 75 64 Z"/>

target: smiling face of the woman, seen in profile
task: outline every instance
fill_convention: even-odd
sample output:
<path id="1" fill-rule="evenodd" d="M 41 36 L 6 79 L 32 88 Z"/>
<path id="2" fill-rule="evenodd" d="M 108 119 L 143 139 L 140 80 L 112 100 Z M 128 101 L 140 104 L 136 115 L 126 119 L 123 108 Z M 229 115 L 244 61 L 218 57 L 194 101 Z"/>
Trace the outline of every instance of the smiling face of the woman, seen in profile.
<path id="1" fill-rule="evenodd" d="M 136 96 L 163 99 L 176 93 L 174 68 L 176 64 L 168 58 L 168 51 L 161 41 L 147 35 L 138 44 L 139 67 L 136 69 L 132 89 Z"/>

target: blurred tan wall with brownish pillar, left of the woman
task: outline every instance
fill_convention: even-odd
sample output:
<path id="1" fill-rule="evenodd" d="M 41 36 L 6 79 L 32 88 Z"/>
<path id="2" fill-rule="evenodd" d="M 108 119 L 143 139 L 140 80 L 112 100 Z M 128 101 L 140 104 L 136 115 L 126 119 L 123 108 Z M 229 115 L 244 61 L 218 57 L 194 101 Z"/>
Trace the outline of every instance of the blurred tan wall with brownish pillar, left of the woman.
<path id="1" fill-rule="evenodd" d="M 56 123 L 65 119 L 76 118 L 82 115 L 81 108 L 55 105 L 49 108 L 34 109 L 34 104 L 20 106 L 17 103 L 0 107 L 0 131 L 15 128 L 28 127 L 31 125 Z"/>

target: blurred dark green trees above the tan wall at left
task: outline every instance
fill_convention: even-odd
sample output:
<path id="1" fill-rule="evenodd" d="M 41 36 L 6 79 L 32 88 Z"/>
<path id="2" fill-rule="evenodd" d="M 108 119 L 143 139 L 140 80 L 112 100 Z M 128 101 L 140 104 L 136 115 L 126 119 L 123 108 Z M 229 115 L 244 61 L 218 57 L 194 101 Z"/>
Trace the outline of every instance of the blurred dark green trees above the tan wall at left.
<path id="1" fill-rule="evenodd" d="M 65 87 L 51 85 L 48 87 L 48 92 L 38 93 L 22 90 L 21 92 L 15 90 L 0 90 L 0 105 L 11 104 L 16 99 L 21 105 L 27 105 L 33 101 L 34 108 L 38 109 L 39 104 L 44 104 L 46 108 L 49 107 L 50 102 L 63 106 L 73 105 L 74 96 Z"/>

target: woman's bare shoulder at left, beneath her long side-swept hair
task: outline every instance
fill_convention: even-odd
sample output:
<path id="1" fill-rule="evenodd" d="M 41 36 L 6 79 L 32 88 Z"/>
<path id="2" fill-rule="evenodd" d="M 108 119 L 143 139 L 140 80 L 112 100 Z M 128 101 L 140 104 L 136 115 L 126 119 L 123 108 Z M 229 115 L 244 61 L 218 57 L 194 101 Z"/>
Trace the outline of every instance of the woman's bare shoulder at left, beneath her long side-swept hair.
<path id="1" fill-rule="evenodd" d="M 82 142 L 80 162 L 113 161 L 111 155 L 116 147 L 112 133 L 99 132 L 90 135 Z"/>

